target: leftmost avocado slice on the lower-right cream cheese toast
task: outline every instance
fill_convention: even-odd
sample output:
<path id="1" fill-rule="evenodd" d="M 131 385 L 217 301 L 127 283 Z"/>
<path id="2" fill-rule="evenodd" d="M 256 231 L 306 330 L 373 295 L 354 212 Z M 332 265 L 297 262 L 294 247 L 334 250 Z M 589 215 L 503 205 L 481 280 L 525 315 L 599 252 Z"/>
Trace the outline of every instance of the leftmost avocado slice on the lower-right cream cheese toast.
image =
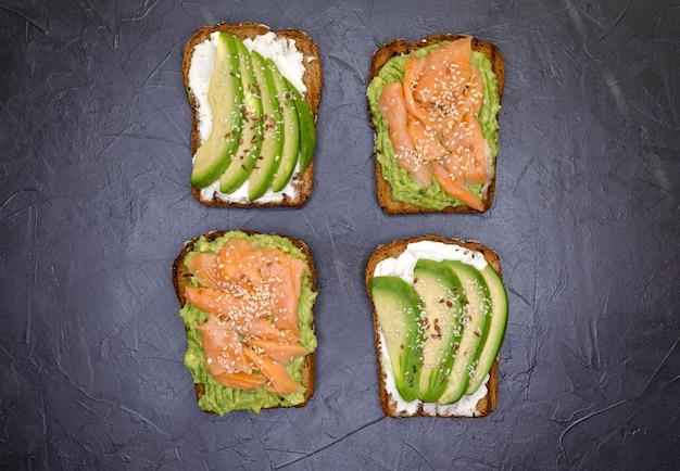
<path id="1" fill-rule="evenodd" d="M 374 277 L 370 290 L 396 391 L 404 400 L 414 400 L 423 360 L 423 302 L 415 289 L 399 277 Z"/>

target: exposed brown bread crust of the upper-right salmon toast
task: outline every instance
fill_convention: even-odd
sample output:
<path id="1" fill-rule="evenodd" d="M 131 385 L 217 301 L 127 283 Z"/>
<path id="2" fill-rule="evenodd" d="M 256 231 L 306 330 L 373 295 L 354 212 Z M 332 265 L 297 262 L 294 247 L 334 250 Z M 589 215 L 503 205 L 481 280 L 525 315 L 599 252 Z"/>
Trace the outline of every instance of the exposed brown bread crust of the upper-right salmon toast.
<path id="1" fill-rule="evenodd" d="M 368 84 L 378 75 L 382 66 L 392 58 L 398 55 L 410 54 L 413 51 L 416 51 L 420 48 L 425 48 L 428 46 L 437 44 L 442 41 L 454 41 L 456 39 L 461 39 L 466 37 L 465 35 L 431 35 L 426 38 L 419 39 L 417 41 L 408 42 L 405 39 L 393 39 L 389 42 L 386 42 L 380 48 L 378 48 L 374 54 L 370 62 L 370 71 L 368 73 Z M 484 41 L 479 38 L 473 38 L 473 50 L 483 53 L 489 61 L 491 62 L 491 68 L 496 76 L 499 87 L 499 101 L 503 101 L 503 90 L 505 88 L 505 63 L 503 61 L 503 55 L 501 54 L 501 50 L 493 43 Z M 498 119 L 498 116 L 496 116 Z M 375 124 L 373 122 L 373 116 L 370 113 L 370 105 L 368 106 L 368 120 L 370 123 L 370 127 L 375 130 Z M 377 152 L 377 150 L 375 151 Z M 496 156 L 498 158 L 498 156 Z M 495 173 L 493 175 L 493 179 L 489 186 L 487 194 L 482 200 L 482 209 L 477 211 L 466 205 L 459 206 L 446 206 L 443 209 L 435 209 L 429 207 L 417 206 L 414 204 L 403 203 L 400 201 L 392 200 L 392 187 L 382 176 L 382 166 L 376 156 L 375 158 L 376 165 L 376 192 L 378 194 L 378 202 L 382 207 L 382 211 L 388 215 L 395 214 L 412 214 L 412 213 L 467 213 L 467 214 L 477 214 L 484 213 L 491 207 L 493 202 L 493 198 L 495 195 Z"/>

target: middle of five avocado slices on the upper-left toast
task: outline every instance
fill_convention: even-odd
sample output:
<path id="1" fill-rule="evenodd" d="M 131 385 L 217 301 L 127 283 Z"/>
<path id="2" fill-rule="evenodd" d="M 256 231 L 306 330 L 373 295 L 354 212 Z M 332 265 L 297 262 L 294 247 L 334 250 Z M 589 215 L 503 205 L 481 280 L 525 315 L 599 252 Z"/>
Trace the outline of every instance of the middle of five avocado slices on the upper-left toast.
<path id="1" fill-rule="evenodd" d="M 253 201 L 262 196 L 269 189 L 279 164 L 281 163 L 284 120 L 272 71 L 257 51 L 251 52 L 251 59 L 253 63 L 253 74 L 256 82 L 260 85 L 264 131 L 260 156 L 250 174 L 248 198 L 250 201 Z"/>

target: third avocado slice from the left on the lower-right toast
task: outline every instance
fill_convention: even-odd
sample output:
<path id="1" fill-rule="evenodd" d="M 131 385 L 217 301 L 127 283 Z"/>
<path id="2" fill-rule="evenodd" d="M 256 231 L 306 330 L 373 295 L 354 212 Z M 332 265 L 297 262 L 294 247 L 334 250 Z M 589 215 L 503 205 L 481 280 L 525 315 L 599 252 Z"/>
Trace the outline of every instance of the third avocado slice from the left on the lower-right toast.
<path id="1" fill-rule="evenodd" d="M 491 317 L 489 315 L 491 311 L 489 288 L 479 270 L 463 262 L 446 260 L 445 263 L 461 280 L 467 304 L 463 313 L 463 335 L 451 368 L 449 384 L 439 398 L 439 404 L 442 405 L 457 402 L 467 391 L 467 384 L 477 368 L 481 340 L 487 334 Z"/>

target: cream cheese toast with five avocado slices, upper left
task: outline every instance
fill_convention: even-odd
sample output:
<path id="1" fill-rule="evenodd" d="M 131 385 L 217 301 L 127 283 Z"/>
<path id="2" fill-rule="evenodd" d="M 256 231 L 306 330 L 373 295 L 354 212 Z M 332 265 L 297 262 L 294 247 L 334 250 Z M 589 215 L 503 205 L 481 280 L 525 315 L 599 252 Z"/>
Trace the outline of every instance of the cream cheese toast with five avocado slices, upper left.
<path id="1" fill-rule="evenodd" d="M 315 42 L 252 23 L 203 26 L 187 41 L 182 75 L 193 196 L 206 206 L 301 206 L 323 85 Z"/>

